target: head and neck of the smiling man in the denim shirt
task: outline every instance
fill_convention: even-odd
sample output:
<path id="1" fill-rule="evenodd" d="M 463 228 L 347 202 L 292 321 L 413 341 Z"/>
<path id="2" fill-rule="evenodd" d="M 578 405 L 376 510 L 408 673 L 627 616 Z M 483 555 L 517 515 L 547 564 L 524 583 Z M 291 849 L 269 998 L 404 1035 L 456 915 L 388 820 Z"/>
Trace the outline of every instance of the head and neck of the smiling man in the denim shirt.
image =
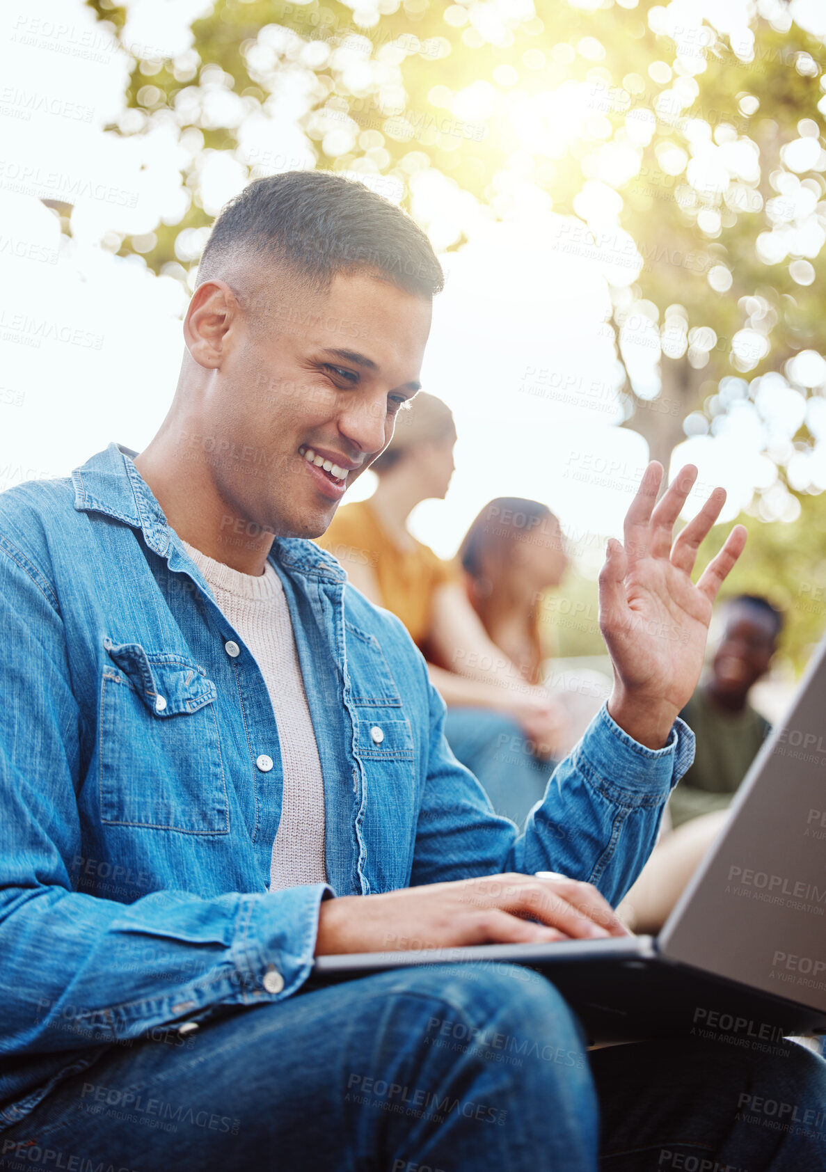
<path id="1" fill-rule="evenodd" d="M 396 413 L 419 388 L 442 287 L 426 239 L 391 204 L 373 197 L 375 206 L 341 222 L 330 206 L 313 223 L 308 196 L 342 195 L 313 179 L 323 184 L 303 173 L 282 180 L 279 202 L 257 217 L 248 193 L 217 222 L 184 327 L 178 391 L 135 462 L 173 527 L 252 574 L 273 534 L 323 533 L 390 442 Z M 382 254 L 375 238 L 388 229 Z M 221 538 L 235 518 L 247 536 L 258 527 L 257 540 L 227 556 Z"/>

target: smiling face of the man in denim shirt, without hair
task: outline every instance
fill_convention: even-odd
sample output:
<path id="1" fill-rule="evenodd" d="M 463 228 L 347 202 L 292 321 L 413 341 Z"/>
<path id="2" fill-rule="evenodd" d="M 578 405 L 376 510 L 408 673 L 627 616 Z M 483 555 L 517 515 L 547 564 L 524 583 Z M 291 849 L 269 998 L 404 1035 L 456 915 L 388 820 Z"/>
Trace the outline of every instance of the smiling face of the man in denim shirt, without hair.
<path id="1" fill-rule="evenodd" d="M 326 293 L 274 273 L 241 307 L 203 400 L 216 486 L 261 532 L 319 537 L 418 389 L 431 302 L 363 272 Z"/>

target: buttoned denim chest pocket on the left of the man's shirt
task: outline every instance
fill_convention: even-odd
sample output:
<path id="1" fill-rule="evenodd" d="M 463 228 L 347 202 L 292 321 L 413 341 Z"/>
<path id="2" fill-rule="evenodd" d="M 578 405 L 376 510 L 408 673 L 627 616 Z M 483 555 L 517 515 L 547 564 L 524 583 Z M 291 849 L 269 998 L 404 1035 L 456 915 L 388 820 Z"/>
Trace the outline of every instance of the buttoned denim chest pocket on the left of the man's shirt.
<path id="1" fill-rule="evenodd" d="M 217 689 L 204 669 L 141 643 L 103 643 L 98 725 L 101 820 L 226 834 Z"/>

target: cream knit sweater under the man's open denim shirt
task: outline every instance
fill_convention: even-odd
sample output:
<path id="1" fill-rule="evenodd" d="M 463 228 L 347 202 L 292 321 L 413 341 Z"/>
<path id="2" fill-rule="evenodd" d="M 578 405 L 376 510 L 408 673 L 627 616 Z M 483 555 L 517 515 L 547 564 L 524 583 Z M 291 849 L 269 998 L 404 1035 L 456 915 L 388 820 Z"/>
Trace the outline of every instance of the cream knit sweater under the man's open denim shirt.
<path id="1" fill-rule="evenodd" d="M 260 575 L 243 574 L 187 541 L 184 546 L 258 663 L 275 714 L 284 796 L 269 890 L 327 883 L 321 762 L 281 579 L 269 563 Z"/>

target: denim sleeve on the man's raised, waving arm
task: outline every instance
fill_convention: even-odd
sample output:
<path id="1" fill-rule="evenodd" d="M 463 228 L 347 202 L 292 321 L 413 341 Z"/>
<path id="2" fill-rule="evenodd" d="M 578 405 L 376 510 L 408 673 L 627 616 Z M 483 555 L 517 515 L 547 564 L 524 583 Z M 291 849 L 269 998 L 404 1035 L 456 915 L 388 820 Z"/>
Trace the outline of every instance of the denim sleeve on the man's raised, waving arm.
<path id="1" fill-rule="evenodd" d="M 594 884 L 616 906 L 656 841 L 673 788 L 694 759 L 694 734 L 677 717 L 662 749 L 648 749 L 607 704 L 548 779 L 520 834 L 493 813 L 443 735 L 434 689 L 429 772 L 416 836 L 412 884 L 506 871 L 559 871 Z"/>

